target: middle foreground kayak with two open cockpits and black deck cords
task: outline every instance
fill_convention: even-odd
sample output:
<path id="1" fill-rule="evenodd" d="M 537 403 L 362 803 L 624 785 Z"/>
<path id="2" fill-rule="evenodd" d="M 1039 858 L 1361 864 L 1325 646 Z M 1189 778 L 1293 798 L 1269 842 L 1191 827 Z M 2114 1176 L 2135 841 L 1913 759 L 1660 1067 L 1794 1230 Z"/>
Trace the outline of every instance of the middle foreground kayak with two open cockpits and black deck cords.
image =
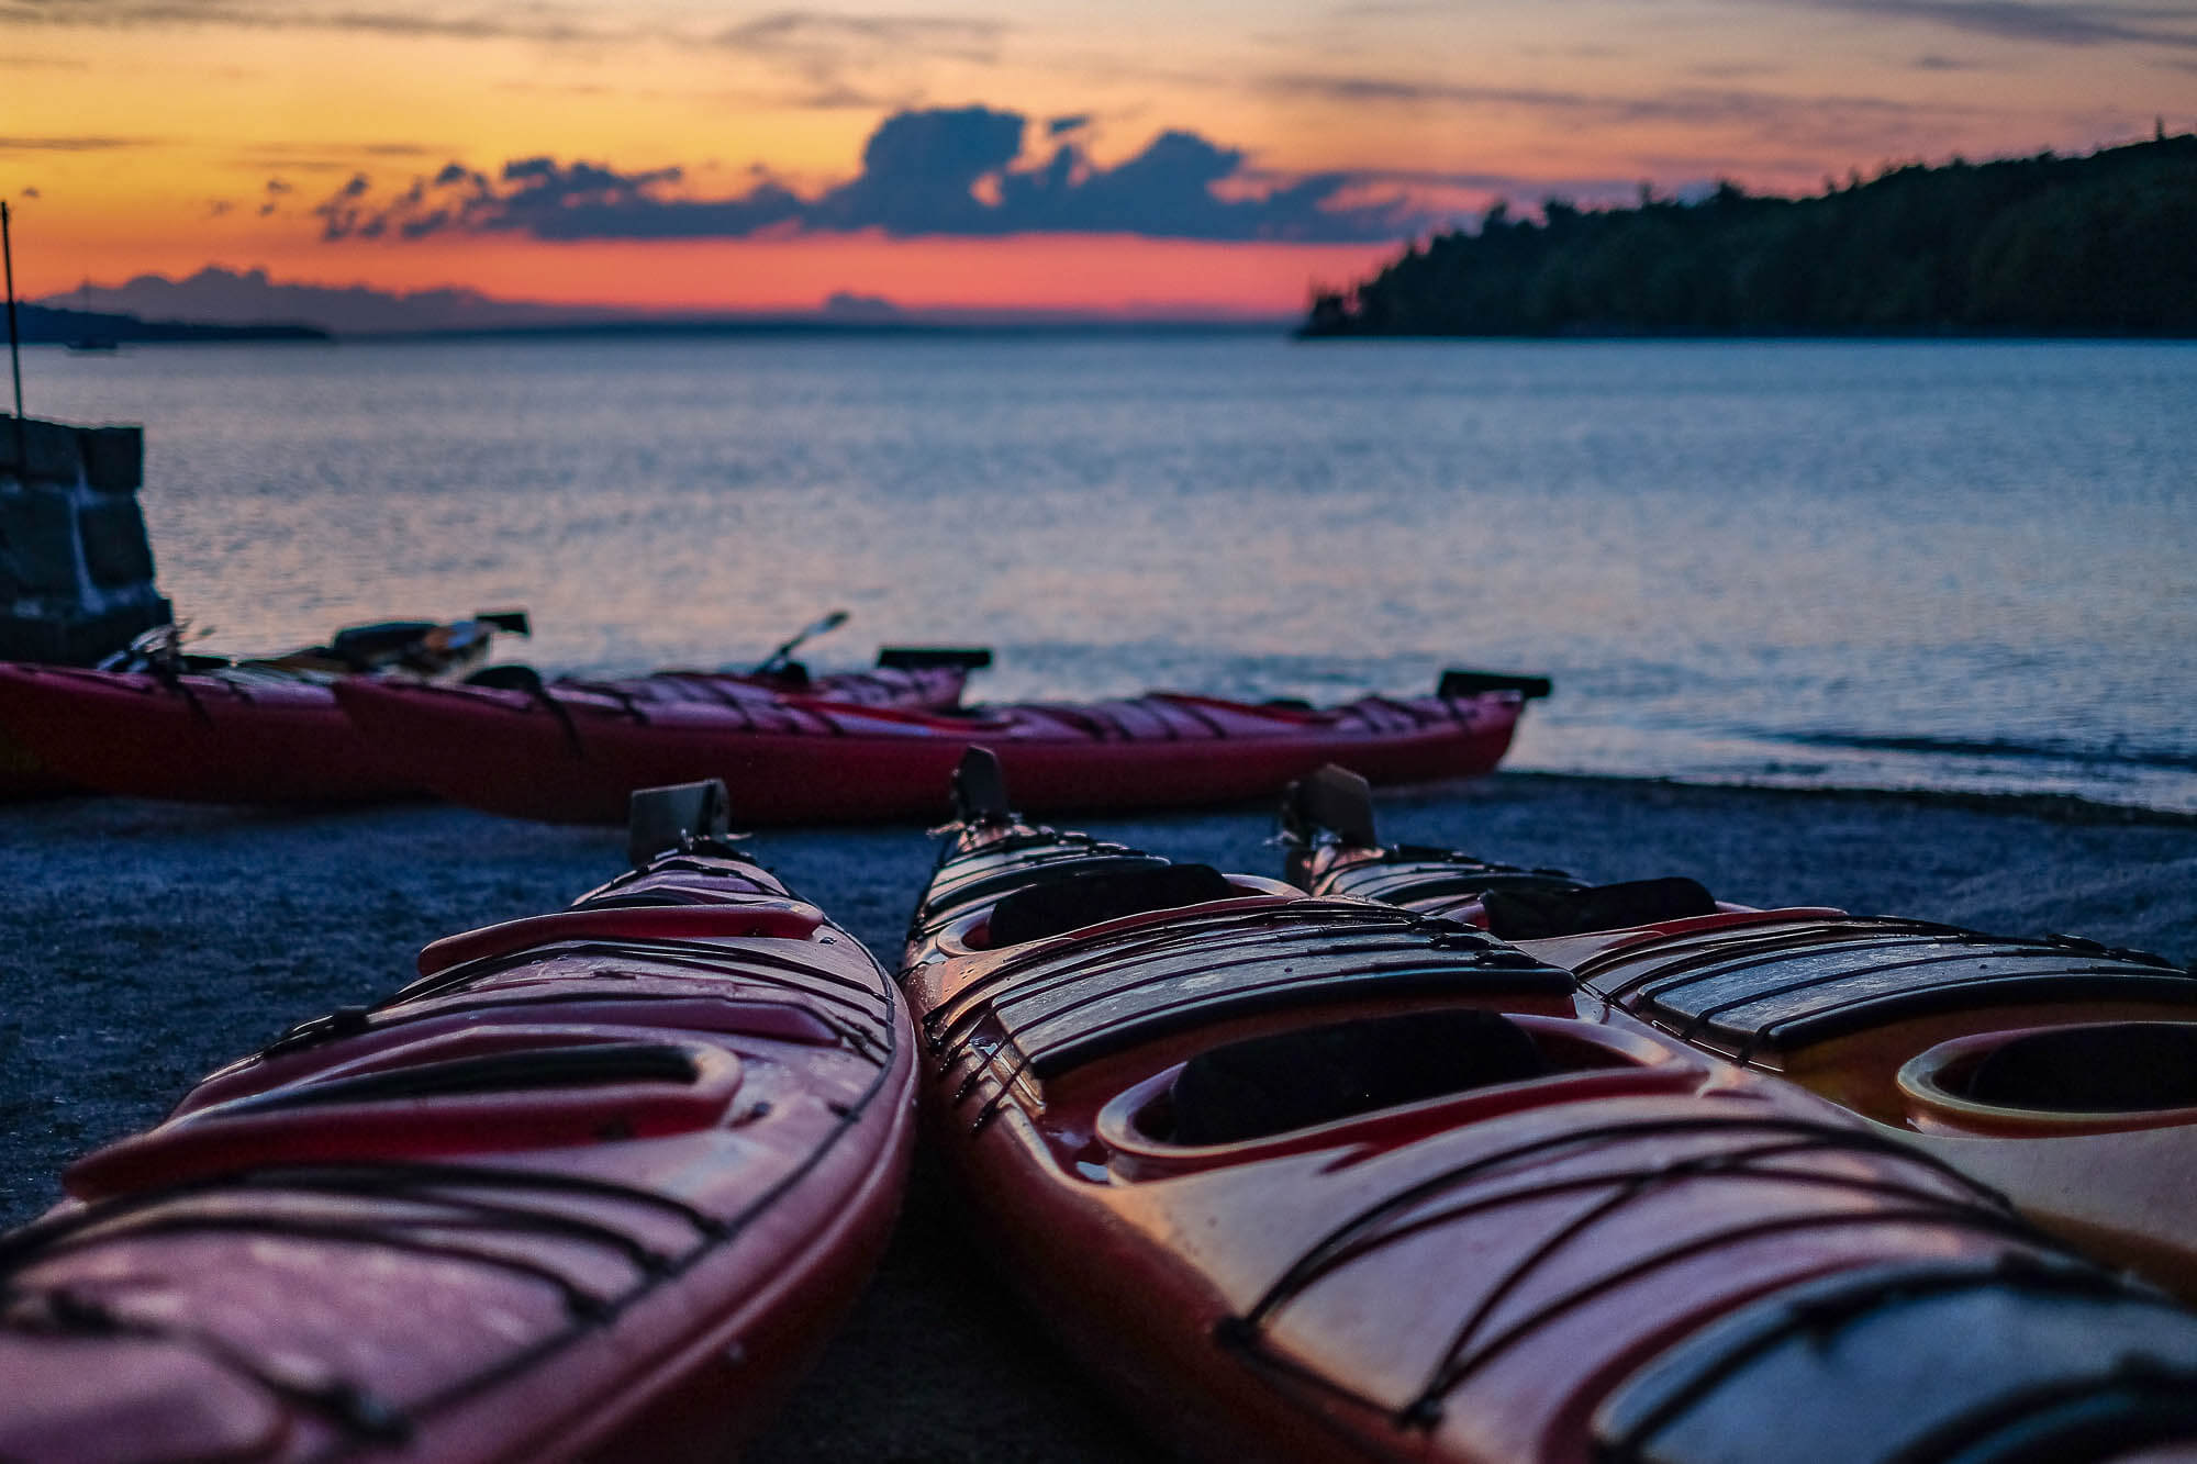
<path id="1" fill-rule="evenodd" d="M 903 974 L 984 1244 L 1211 1460 L 2188 1457 L 2197 1315 L 1457 921 L 969 796 Z"/>

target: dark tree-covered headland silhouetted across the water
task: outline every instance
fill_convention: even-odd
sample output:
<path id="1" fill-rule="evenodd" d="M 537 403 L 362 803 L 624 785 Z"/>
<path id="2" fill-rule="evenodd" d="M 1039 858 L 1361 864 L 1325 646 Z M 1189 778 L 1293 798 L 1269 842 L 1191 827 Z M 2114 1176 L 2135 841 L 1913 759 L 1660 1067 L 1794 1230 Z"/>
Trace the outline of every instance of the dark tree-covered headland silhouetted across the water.
<path id="1" fill-rule="evenodd" d="M 1413 244 L 1298 334 L 2197 336 L 2197 134 L 1540 213 Z"/>

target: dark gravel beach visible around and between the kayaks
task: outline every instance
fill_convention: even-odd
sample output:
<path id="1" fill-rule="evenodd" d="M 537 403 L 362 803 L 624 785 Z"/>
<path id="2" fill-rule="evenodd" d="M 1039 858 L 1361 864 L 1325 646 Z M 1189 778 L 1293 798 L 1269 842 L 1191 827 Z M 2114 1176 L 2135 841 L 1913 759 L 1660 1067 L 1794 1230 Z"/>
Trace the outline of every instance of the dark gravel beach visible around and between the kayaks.
<path id="1" fill-rule="evenodd" d="M 1602 879 L 1683 873 L 1744 903 L 1830 903 L 2197 956 L 2197 820 L 2074 800 L 1795 794 L 1503 774 L 1391 794 L 1395 840 Z M 1279 873 L 1272 813 L 1096 820 L 1184 859 Z M 288 816 L 66 798 L 0 809 L 0 1222 L 73 1156 L 160 1117 L 290 1022 L 373 1000 L 426 941 L 551 910 L 617 873 L 622 835 L 444 807 Z M 934 840 L 802 831 L 754 849 L 890 965 Z M 964 1244 L 918 1165 L 883 1273 L 751 1453 L 1136 1460 L 1134 1420 Z"/>

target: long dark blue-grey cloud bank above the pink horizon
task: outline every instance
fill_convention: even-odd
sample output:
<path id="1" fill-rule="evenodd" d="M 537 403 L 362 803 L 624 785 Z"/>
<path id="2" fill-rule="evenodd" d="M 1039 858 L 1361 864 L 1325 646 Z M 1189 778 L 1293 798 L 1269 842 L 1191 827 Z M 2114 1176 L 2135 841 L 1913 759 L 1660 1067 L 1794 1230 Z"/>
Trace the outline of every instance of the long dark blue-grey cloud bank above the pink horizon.
<path id="1" fill-rule="evenodd" d="M 538 240 L 747 237 L 776 229 L 881 229 L 899 237 L 1008 233 L 1138 233 L 1169 240 L 1386 242 L 1430 226 L 1399 198 L 1345 202 L 1384 182 L 1369 174 L 1276 180 L 1246 154 L 1195 132 L 1162 132 L 1140 154 L 1098 167 L 1074 141 L 1017 167 L 1030 123 L 993 108 L 888 117 L 861 171 L 813 198 L 760 176 L 734 198 L 683 196 L 685 169 L 617 171 L 598 163 L 518 158 L 497 178 L 446 165 L 369 202 L 365 176 L 321 202 L 323 235 L 426 237 L 525 233 Z M 1219 185 L 1230 185 L 1222 196 Z"/>

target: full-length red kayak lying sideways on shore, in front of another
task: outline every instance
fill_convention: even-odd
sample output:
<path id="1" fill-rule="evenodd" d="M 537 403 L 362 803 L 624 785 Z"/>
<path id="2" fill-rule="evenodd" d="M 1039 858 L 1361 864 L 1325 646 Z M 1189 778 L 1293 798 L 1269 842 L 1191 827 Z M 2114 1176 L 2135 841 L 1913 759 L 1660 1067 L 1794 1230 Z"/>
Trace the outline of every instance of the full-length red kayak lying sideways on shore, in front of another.
<path id="1" fill-rule="evenodd" d="M 393 681 L 347 681 L 336 697 L 406 776 L 490 813 L 617 822 L 637 787 L 721 778 L 743 818 L 791 824 L 940 818 L 947 778 L 971 745 L 997 752 L 1033 809 L 1261 798 L 1334 758 L 1378 783 L 1485 774 L 1518 725 L 1520 681 L 1538 679 L 1450 673 L 1432 697 L 1331 708 L 1151 692 L 956 717 L 795 697 L 637 703 L 584 688 Z"/>

